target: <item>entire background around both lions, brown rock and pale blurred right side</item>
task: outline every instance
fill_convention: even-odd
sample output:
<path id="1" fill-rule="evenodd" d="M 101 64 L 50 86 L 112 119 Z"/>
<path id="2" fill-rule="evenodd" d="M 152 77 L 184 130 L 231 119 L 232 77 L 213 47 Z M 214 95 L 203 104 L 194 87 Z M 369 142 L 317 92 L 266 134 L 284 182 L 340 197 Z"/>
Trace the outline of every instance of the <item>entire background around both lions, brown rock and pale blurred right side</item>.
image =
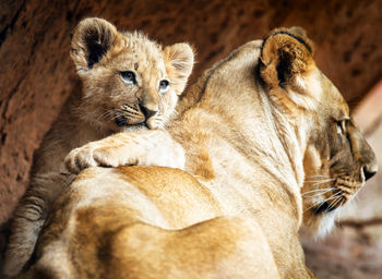
<path id="1" fill-rule="evenodd" d="M 0 248 L 28 183 L 33 153 L 79 86 L 70 33 L 85 16 L 162 44 L 190 41 L 191 77 L 278 26 L 302 26 L 315 61 L 345 98 L 382 161 L 382 0 L 2 0 L 0 1 Z M 302 239 L 318 278 L 382 278 L 382 171 L 326 239 Z M 0 257 L 1 260 L 1 257 Z"/>

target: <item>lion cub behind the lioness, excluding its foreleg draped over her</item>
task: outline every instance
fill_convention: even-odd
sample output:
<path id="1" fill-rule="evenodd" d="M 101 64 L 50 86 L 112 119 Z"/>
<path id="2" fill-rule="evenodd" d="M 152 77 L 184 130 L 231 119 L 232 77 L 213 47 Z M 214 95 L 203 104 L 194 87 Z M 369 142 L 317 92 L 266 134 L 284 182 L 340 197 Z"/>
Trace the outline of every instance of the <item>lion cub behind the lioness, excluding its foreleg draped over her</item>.
<path id="1" fill-rule="evenodd" d="M 70 56 L 82 94 L 72 94 L 35 154 L 29 189 L 11 225 L 3 265 L 9 277 L 29 259 L 52 202 L 72 179 L 64 174 L 68 153 L 116 132 L 163 128 L 193 66 L 188 44 L 162 48 L 102 19 L 80 22 Z"/>

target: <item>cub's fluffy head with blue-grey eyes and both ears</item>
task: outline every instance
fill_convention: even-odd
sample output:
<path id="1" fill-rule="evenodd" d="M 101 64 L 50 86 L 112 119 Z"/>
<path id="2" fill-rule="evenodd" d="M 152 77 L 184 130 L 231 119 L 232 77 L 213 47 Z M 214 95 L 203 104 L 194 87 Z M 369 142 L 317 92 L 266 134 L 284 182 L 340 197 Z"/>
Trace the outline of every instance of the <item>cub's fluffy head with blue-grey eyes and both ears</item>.
<path id="1" fill-rule="evenodd" d="M 70 54 L 83 81 L 80 117 L 107 131 L 162 128 L 193 66 L 188 44 L 162 48 L 96 17 L 75 27 Z"/>

